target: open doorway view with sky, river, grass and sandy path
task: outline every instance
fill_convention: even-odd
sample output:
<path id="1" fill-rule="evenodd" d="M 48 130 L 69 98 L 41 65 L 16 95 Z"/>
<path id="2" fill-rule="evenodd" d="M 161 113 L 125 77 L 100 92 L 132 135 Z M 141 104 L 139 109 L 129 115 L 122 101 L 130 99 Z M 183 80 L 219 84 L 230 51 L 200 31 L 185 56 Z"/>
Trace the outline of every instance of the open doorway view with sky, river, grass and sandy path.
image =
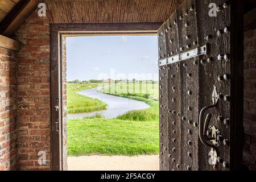
<path id="1" fill-rule="evenodd" d="M 159 170 L 157 36 L 66 39 L 68 170 Z"/>

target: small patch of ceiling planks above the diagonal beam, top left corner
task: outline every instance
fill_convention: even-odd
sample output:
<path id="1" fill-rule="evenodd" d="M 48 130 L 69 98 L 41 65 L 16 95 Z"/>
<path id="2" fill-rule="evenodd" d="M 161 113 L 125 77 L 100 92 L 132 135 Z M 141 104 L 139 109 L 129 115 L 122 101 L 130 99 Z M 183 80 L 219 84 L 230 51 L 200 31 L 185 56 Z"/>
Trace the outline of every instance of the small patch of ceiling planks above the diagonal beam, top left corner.
<path id="1" fill-rule="evenodd" d="M 0 0 L 0 22 L 6 18 L 20 1 L 21 0 Z"/>

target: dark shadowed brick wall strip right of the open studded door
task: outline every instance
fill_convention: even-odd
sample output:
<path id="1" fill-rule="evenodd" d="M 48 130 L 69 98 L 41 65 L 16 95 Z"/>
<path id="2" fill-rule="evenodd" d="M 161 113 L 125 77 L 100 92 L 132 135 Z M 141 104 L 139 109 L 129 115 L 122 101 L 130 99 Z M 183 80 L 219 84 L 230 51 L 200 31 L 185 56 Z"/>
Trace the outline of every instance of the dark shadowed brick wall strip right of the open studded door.
<path id="1" fill-rule="evenodd" d="M 256 19 L 256 14 L 245 16 Z M 256 27 L 245 19 L 244 33 L 244 116 L 245 144 L 243 163 L 250 170 L 256 170 Z M 250 28 L 248 28 L 250 26 Z M 249 29 L 249 30 L 248 30 Z"/>

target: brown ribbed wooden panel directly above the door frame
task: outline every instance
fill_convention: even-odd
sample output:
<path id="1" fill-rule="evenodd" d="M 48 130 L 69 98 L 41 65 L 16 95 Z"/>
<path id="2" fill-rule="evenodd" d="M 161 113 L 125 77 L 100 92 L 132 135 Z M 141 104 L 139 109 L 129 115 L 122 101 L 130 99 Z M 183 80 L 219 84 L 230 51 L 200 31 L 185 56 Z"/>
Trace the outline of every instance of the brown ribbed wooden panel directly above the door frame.
<path id="1" fill-rule="evenodd" d="M 184 0 L 46 0 L 51 23 L 164 22 Z"/>

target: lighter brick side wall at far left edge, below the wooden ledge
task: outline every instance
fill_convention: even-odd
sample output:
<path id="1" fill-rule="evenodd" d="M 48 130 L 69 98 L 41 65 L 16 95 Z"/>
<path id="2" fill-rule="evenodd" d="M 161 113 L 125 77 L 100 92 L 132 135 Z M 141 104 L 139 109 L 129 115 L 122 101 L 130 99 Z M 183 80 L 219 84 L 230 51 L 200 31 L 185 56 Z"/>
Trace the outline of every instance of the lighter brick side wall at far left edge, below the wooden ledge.
<path id="1" fill-rule="evenodd" d="M 16 169 L 15 54 L 10 49 L 0 48 L 0 171 Z"/>

